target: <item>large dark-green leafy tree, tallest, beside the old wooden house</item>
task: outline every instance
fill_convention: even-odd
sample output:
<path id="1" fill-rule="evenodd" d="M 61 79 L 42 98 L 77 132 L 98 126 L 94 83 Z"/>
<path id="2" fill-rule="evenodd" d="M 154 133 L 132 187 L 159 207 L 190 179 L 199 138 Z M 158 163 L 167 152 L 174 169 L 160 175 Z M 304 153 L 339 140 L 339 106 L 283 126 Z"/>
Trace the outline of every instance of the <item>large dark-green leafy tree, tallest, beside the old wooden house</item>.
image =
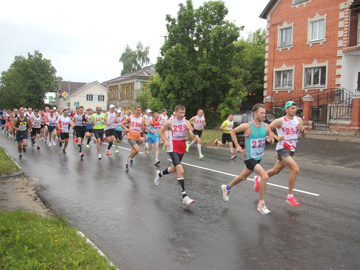
<path id="1" fill-rule="evenodd" d="M 234 41 L 243 26 L 225 20 L 228 9 L 223 1 L 208 1 L 194 9 L 187 0 L 179 7 L 177 18 L 166 15 L 168 39 L 156 64 L 159 77 L 150 81 L 150 91 L 169 110 L 183 104 L 186 114 L 202 108 L 209 117 L 211 105 L 221 103 L 230 89 L 237 93 L 242 89 L 234 81 L 238 67 L 233 57 Z"/>

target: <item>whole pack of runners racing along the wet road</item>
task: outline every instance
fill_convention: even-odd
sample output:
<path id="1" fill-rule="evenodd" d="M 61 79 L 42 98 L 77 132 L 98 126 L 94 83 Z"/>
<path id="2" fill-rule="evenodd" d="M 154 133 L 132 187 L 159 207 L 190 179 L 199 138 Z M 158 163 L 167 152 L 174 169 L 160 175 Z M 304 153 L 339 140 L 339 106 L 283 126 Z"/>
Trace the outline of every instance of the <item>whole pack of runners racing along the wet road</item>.
<path id="1" fill-rule="evenodd" d="M 296 117 L 296 107 L 294 102 L 287 102 L 283 109 L 286 115 L 274 120 L 270 125 L 263 122 L 265 118 L 265 106 L 263 104 L 254 105 L 252 109 L 254 120 L 252 122 L 243 123 L 233 129 L 233 115 L 230 114 L 228 119 L 222 123 L 220 127 L 224 131 L 222 141 L 216 139 L 214 144 L 224 146 L 228 141 L 231 159 L 236 157 L 232 151 L 233 143 L 237 153 L 243 152 L 237 141 L 236 133 L 243 131 L 245 136 L 245 167 L 233 181 L 221 186 L 223 198 L 226 202 L 229 201 L 230 189 L 246 180 L 252 172 L 255 172 L 254 189 L 260 195 L 257 210 L 262 214 L 271 213 L 265 206 L 264 200 L 266 182 L 269 177 L 278 174 L 283 168 L 287 167 L 290 175 L 286 201 L 292 206 L 300 205 L 293 196 L 293 188 L 299 167 L 292 156 L 296 149 L 298 136 L 304 137 L 306 130 L 303 127 L 302 119 Z M 163 109 L 161 114 L 154 112 L 153 115 L 152 111 L 148 109 L 146 114 L 142 116 L 139 105 L 134 107 L 134 114 L 132 115 L 130 111 L 127 111 L 124 115 L 122 109 L 116 109 L 113 104 L 109 106 L 109 111 L 105 113 L 100 107 L 96 107 L 95 111 L 88 109 L 84 112 L 84 108 L 80 106 L 76 108 L 71 117 L 68 116 L 67 109 L 56 110 L 56 108 L 53 108 L 49 110 L 46 107 L 41 115 L 39 110 L 35 109 L 35 112 L 32 112 L 30 109 L 27 109 L 26 113 L 23 108 L 18 111 L 14 109 L 13 113 L 10 112 L 10 114 L 6 109 L 0 112 L 1 126 L 5 130 L 4 134 L 7 134 L 7 132 L 11 134 L 11 132 L 16 131 L 16 135 L 14 133 L 13 135 L 18 143 L 19 158 L 22 158 L 22 152 L 26 153 L 29 132 L 31 132 L 31 144 L 37 144 L 37 148 L 40 149 L 39 141 L 42 129 L 45 132 L 45 143 L 49 136 L 49 147 L 56 145 L 55 139 L 58 137 L 59 146 L 64 145 L 62 152 L 66 154 L 65 149 L 68 145 L 69 127 L 71 126 L 75 135 L 73 140 L 77 143 L 81 159 L 84 157 L 81 148 L 84 138 L 87 139 L 86 148 L 90 148 L 89 143 L 93 138 L 94 143 L 97 144 L 98 159 L 101 159 L 100 146 L 105 140 L 108 143 L 106 154 L 111 155 L 110 149 L 112 145 L 115 144 L 115 152 L 118 153 L 118 144 L 121 143 L 123 136 L 127 135 L 127 140 L 131 145 L 131 152 L 124 163 L 124 168 L 129 171 L 130 167 L 134 167 L 134 157 L 140 152 L 140 144 L 143 142 L 145 142 L 144 153 L 149 153 L 153 147 L 155 148 L 154 165 L 158 165 L 160 163 L 158 156 L 159 142 L 161 140 L 164 143 L 163 149 L 167 150 L 172 164 L 163 171 L 156 170 L 154 184 L 159 185 L 161 177 L 176 172 L 183 203 L 190 205 L 194 202 L 185 192 L 184 168 L 181 165 L 181 160 L 185 152 L 189 152 L 190 147 L 194 144 L 197 145 L 199 158 L 204 157 L 201 153 L 201 135 L 202 129 L 206 126 L 206 120 L 202 109 L 199 109 L 197 115 L 190 118 L 190 120 L 185 118 L 185 107 L 183 105 L 175 107 L 170 119 L 167 117 L 166 109 Z M 3 112 L 6 112 L 6 114 Z M 4 121 L 5 119 L 7 122 Z M 10 131 L 7 125 L 9 121 L 12 122 L 12 125 L 10 125 L 12 130 Z M 274 134 L 273 129 L 277 130 L 277 135 Z M 186 137 L 191 141 L 188 145 L 186 145 Z M 274 139 L 278 141 L 276 145 L 278 161 L 273 168 L 265 171 L 260 165 L 260 161 L 266 142 L 274 143 Z"/>

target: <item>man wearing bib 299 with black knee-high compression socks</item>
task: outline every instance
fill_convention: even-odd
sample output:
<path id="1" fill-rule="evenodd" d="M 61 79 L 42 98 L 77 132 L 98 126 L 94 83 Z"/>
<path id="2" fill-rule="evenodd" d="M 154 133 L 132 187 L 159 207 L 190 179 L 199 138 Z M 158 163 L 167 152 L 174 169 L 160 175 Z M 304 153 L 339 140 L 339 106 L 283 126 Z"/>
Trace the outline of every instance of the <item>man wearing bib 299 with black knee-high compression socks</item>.
<path id="1" fill-rule="evenodd" d="M 175 112 L 175 118 L 173 120 L 166 121 L 159 130 L 159 137 L 163 139 L 166 147 L 168 147 L 172 164 L 162 172 L 160 170 L 156 170 L 154 184 L 156 186 L 159 185 L 160 177 L 177 172 L 177 183 L 179 184 L 181 194 L 183 195 L 183 203 L 190 205 L 194 202 L 194 200 L 190 199 L 185 192 L 184 168 L 183 165 L 181 165 L 181 159 L 183 158 L 186 149 L 186 133 L 188 133 L 188 138 L 190 140 L 194 139 L 194 134 L 191 131 L 190 122 L 185 119 L 185 107 L 183 105 L 177 105 L 175 107 Z M 165 131 L 168 129 L 172 130 L 172 140 L 169 140 L 165 134 Z"/>

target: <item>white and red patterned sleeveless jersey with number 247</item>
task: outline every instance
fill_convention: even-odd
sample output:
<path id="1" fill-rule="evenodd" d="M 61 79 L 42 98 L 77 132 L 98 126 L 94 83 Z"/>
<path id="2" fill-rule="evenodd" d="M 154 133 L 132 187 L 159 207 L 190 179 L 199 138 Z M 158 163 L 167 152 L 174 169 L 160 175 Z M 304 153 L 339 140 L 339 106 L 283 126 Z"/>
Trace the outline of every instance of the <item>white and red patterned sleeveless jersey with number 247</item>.
<path id="1" fill-rule="evenodd" d="M 281 117 L 283 120 L 283 127 L 281 129 L 276 129 L 278 131 L 278 136 L 285 136 L 285 139 L 278 141 L 276 144 L 276 150 L 286 148 L 289 151 L 295 152 L 296 142 L 299 137 L 299 132 L 297 125 L 299 121 L 297 117 L 294 117 L 293 120 L 287 119 L 285 116 Z"/>

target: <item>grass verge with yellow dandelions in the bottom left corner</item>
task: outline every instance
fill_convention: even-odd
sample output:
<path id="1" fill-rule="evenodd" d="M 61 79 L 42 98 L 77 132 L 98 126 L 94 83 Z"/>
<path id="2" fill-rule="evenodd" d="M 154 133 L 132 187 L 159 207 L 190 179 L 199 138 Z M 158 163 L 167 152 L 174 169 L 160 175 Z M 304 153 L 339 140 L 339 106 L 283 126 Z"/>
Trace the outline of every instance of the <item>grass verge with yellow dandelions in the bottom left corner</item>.
<path id="1" fill-rule="evenodd" d="M 0 211 L 1 269 L 117 269 L 62 217 Z"/>

